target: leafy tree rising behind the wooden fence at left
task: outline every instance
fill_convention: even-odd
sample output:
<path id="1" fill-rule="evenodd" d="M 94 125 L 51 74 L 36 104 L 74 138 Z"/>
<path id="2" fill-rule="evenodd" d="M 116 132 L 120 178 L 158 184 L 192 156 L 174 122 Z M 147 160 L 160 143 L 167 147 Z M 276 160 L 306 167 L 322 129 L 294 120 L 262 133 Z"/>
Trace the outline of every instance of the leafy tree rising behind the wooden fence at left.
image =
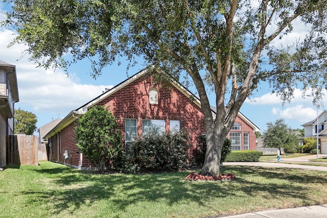
<path id="1" fill-rule="evenodd" d="M 36 127 L 37 118 L 32 112 L 22 110 L 20 108 L 15 109 L 15 134 L 33 135 Z"/>

